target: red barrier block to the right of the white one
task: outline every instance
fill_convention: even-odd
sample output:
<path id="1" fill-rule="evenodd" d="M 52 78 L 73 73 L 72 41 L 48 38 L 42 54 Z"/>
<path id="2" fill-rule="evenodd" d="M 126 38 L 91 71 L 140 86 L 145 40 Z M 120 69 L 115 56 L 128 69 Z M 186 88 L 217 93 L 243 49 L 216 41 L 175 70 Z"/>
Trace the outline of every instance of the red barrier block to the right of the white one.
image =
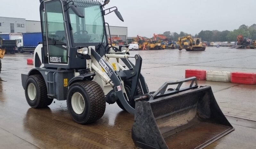
<path id="1" fill-rule="evenodd" d="M 232 72 L 230 82 L 256 85 L 256 73 Z"/>

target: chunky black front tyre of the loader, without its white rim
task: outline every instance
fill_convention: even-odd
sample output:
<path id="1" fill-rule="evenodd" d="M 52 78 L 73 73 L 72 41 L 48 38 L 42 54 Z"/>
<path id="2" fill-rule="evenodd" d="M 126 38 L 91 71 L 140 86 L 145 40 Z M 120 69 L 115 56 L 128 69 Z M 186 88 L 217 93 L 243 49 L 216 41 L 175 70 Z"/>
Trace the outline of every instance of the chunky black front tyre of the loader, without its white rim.
<path id="1" fill-rule="evenodd" d="M 74 112 L 71 98 L 74 93 L 80 93 L 85 102 L 84 111 L 81 114 Z M 82 81 L 73 83 L 67 93 L 67 107 L 72 119 L 79 124 L 96 122 L 105 113 L 105 95 L 98 83 L 94 81 Z"/>

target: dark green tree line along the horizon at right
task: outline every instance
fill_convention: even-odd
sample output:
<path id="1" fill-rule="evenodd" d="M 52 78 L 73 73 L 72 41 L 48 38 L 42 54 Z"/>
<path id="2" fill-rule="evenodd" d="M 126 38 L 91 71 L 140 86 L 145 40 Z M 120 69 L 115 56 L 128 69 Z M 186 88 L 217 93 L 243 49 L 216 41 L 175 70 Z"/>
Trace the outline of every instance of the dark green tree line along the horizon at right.
<path id="1" fill-rule="evenodd" d="M 192 36 L 191 34 L 185 33 L 185 32 L 180 32 L 180 34 L 174 32 L 171 33 L 170 31 L 166 31 L 163 34 L 166 36 L 168 39 L 177 41 L 178 37 L 182 36 Z M 256 40 L 256 24 L 253 24 L 251 26 L 246 26 L 246 25 L 241 25 L 238 29 L 235 29 L 233 31 L 218 31 L 218 30 L 201 30 L 196 35 L 193 35 L 193 38 L 202 38 L 203 41 L 207 42 L 232 42 L 236 41 L 236 36 L 237 35 L 243 35 L 246 37 L 249 37 L 249 39 Z"/>

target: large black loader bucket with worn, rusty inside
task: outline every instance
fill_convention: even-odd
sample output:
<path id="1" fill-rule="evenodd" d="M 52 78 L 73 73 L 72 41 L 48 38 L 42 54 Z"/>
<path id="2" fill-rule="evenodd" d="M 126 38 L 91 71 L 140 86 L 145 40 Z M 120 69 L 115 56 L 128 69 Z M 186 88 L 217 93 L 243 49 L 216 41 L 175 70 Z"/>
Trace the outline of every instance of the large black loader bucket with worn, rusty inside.
<path id="1" fill-rule="evenodd" d="M 192 90 L 179 89 L 194 80 Z M 195 78 L 180 82 L 177 89 L 163 92 L 163 85 L 149 101 L 137 100 L 132 139 L 142 149 L 199 149 L 233 131 L 220 110 L 210 86 L 198 88 Z M 193 83 L 193 81 L 192 81 Z M 157 95 L 157 96 L 156 96 Z"/>

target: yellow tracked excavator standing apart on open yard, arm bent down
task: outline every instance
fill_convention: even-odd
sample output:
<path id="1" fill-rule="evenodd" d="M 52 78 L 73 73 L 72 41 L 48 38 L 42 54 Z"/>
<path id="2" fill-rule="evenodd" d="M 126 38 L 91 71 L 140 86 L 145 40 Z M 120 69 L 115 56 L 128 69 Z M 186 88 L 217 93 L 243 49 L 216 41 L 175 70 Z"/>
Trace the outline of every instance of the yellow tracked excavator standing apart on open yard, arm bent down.
<path id="1" fill-rule="evenodd" d="M 183 36 L 178 38 L 179 50 L 181 51 L 183 47 L 183 43 L 185 41 L 189 41 L 189 45 L 185 48 L 186 51 L 205 51 L 205 45 L 203 45 L 201 38 L 192 38 L 191 36 Z"/>

